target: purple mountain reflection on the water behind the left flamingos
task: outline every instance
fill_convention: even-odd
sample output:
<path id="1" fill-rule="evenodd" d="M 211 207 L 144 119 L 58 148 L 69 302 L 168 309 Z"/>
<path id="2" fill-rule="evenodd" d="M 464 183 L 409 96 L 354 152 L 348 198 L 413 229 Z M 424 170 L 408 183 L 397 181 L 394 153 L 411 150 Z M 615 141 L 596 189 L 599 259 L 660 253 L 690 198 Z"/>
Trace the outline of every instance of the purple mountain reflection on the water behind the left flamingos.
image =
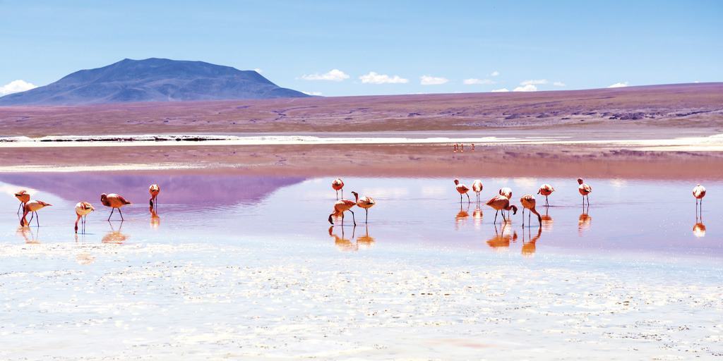
<path id="1" fill-rule="evenodd" d="M 296 177 L 192 173 L 33 173 L 2 174 L 0 181 L 20 188 L 34 188 L 67 201 L 99 202 L 100 193 L 119 193 L 136 204 L 147 204 L 148 186 L 158 183 L 158 203 L 196 206 L 254 204 L 278 188 L 304 181 Z"/>

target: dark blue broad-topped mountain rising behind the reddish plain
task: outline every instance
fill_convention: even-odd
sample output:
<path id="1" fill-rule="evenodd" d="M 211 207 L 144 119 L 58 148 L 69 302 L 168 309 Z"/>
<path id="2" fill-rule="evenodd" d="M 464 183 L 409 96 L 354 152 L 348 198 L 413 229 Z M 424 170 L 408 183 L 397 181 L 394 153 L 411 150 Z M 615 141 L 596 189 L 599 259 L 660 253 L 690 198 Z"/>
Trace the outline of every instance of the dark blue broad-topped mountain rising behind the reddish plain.
<path id="1" fill-rule="evenodd" d="M 256 71 L 163 58 L 124 59 L 76 71 L 57 82 L 0 97 L 0 105 L 79 105 L 184 100 L 308 97 Z"/>

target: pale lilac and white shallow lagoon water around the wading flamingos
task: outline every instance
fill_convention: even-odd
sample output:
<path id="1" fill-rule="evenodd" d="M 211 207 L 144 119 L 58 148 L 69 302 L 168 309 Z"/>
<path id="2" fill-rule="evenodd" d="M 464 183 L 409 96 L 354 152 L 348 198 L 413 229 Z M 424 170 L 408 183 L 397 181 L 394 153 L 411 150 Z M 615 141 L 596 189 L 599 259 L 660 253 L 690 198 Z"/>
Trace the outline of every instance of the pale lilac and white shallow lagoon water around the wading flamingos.
<path id="1" fill-rule="evenodd" d="M 0 357 L 591 359 L 723 352 L 723 183 L 482 179 L 479 211 L 451 179 L 345 178 L 378 204 L 326 218 L 328 178 L 215 173 L 0 176 Z M 471 179 L 463 180 L 470 184 Z M 161 184 L 158 212 L 147 186 Z M 551 183 L 542 227 L 492 224 Z M 20 188 L 54 206 L 18 227 Z M 106 222 L 99 194 L 134 202 Z M 537 196 L 538 203 L 544 198 Z M 87 234 L 73 206 L 90 201 Z M 481 211 L 481 212 L 480 212 Z M 114 215 L 114 217 L 116 217 Z M 501 219 L 498 218 L 498 223 Z M 701 225 L 702 224 L 702 225 Z M 630 354 L 633 352 L 633 354 Z"/>

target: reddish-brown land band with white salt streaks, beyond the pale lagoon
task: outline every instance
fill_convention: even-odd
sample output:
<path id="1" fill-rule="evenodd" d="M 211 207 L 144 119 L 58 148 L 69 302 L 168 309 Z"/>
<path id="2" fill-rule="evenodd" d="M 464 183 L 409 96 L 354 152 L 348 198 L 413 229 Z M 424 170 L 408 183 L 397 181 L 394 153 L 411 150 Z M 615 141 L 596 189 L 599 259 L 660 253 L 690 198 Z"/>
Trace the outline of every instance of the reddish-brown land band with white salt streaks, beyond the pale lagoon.
<path id="1" fill-rule="evenodd" d="M 156 144 L 152 139 L 128 147 L 138 136 L 164 134 L 314 136 L 321 141 L 266 144 L 262 139 L 257 144 L 213 144 L 192 138 Z M 723 137 L 719 134 L 723 134 L 723 83 L 557 92 L 17 106 L 0 107 L 0 169 L 234 168 L 259 174 L 432 176 L 583 172 L 696 178 L 719 174 L 723 165 Z M 63 136 L 80 138 L 74 142 L 58 138 Z M 105 136 L 106 142 L 89 142 L 96 136 Z M 343 142 L 359 136 L 372 141 Z M 46 138 L 17 142 L 17 137 Z M 437 140 L 373 144 L 373 139 L 384 137 Z M 475 152 L 469 144 L 464 153 L 452 150 L 454 142 L 467 143 L 461 139 L 483 138 L 491 140 L 475 141 Z M 323 144 L 325 139 L 336 140 Z M 91 143 L 93 147 L 86 147 Z M 124 147 L 116 147 L 120 145 Z"/>

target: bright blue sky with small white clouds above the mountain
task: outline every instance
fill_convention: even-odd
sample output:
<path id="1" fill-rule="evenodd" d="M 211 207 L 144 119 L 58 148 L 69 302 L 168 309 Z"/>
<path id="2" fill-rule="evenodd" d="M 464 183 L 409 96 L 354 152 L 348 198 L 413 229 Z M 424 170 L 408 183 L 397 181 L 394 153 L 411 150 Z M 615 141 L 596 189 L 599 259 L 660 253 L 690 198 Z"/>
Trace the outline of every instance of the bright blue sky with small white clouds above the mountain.
<path id="1" fill-rule="evenodd" d="M 723 80 L 723 1 L 0 0 L 0 19 L 0 86 L 149 57 L 328 96 Z"/>

